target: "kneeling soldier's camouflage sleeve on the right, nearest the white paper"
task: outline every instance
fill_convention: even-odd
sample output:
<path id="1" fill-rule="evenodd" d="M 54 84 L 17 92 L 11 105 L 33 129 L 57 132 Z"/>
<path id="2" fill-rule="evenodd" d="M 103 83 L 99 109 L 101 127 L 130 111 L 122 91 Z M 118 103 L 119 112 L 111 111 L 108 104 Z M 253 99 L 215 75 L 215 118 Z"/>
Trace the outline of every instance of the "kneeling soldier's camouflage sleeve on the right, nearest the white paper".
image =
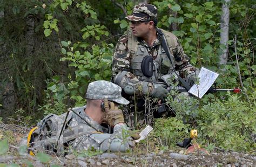
<path id="1" fill-rule="evenodd" d="M 175 69 L 180 72 L 180 76 L 182 78 L 190 77 L 190 75 L 194 75 L 194 70 L 196 67 L 190 64 L 190 58 L 184 53 L 181 44 L 179 43 L 178 38 L 177 40 L 177 47 L 173 48 L 173 56 L 174 56 L 174 66 Z"/>

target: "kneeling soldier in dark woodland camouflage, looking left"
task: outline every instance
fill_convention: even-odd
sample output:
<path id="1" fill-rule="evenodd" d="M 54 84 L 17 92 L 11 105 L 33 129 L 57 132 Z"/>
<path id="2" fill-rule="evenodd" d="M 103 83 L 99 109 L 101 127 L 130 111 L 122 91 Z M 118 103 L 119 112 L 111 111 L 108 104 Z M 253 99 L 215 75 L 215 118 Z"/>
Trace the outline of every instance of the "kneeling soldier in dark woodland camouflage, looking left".
<path id="1" fill-rule="evenodd" d="M 132 15 L 127 16 L 126 19 L 130 20 L 130 31 L 119 38 L 114 50 L 112 78 L 113 82 L 122 87 L 126 94 L 137 96 L 139 99 L 137 107 L 140 109 L 136 114 L 144 115 L 142 117 L 144 120 L 140 121 L 143 123 L 146 113 L 143 106 L 145 102 L 141 102 L 144 101 L 143 97 L 149 95 L 152 98 L 158 98 L 158 103 L 163 103 L 168 92 L 161 83 L 164 82 L 164 85 L 170 86 L 171 83 L 177 82 L 175 70 L 181 78 L 192 84 L 196 80 L 196 68 L 190 64 L 190 59 L 184 53 L 177 37 L 171 32 L 160 29 L 167 41 L 172 62 L 167 57 L 161 45 L 159 29 L 156 27 L 156 6 L 136 5 Z M 153 58 L 152 76 L 147 76 L 147 72 L 143 71 L 143 61 L 149 56 Z M 188 93 L 185 94 L 188 95 Z M 129 113 L 126 118 L 131 122 L 134 119 L 134 113 Z M 129 126 L 133 126 L 132 123 L 129 123 Z"/>

